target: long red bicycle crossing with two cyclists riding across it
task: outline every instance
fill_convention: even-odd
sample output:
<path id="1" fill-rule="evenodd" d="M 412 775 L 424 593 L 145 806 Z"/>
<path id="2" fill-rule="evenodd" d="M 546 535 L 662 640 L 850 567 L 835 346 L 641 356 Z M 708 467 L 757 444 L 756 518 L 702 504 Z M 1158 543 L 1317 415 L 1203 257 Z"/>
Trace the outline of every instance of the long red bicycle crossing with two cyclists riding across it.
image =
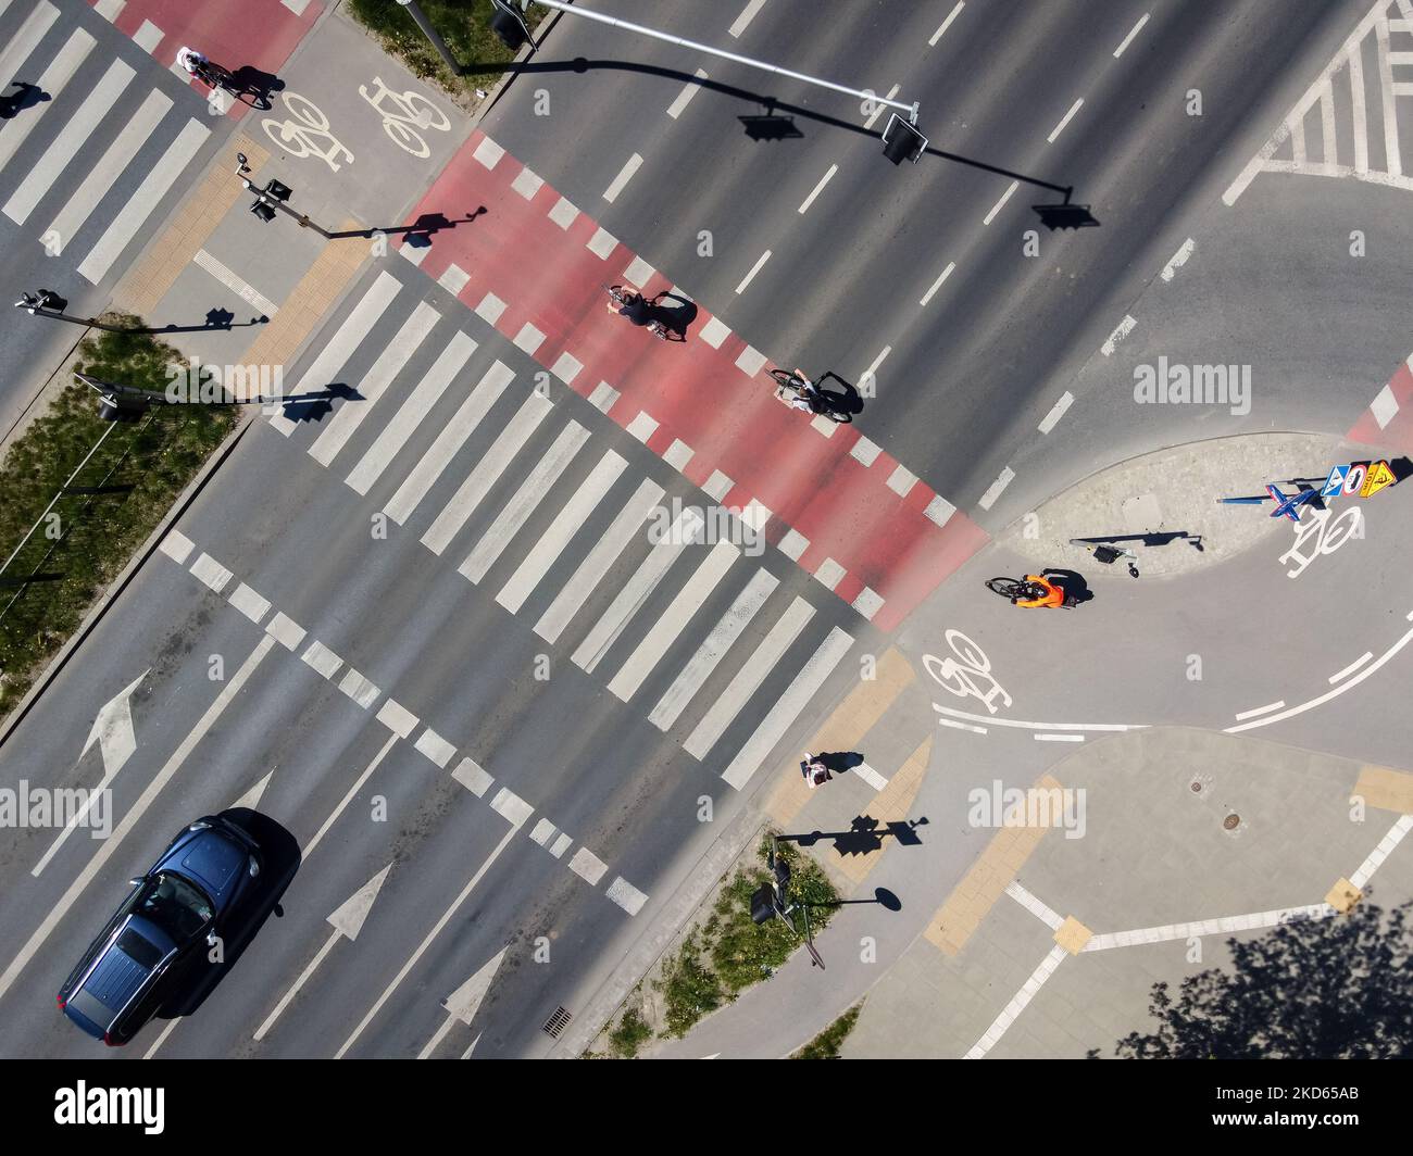
<path id="1" fill-rule="evenodd" d="M 579 394 L 612 386 L 609 415 L 691 482 L 732 509 L 769 509 L 767 540 L 880 629 L 981 548 L 979 526 L 852 425 L 776 400 L 766 358 L 705 308 L 685 343 L 610 315 L 603 284 L 636 273 L 651 297 L 671 283 L 561 201 L 478 131 L 415 211 L 455 223 L 403 252 Z"/>

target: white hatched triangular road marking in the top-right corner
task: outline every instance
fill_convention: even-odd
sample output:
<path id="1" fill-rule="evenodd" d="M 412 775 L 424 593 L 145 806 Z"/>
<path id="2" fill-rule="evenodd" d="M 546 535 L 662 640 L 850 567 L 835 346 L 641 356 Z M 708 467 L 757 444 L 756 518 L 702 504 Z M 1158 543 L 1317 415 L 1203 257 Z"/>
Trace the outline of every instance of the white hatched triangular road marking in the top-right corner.
<path id="1" fill-rule="evenodd" d="M 1410 136 L 1413 0 L 1378 0 L 1222 201 L 1235 205 L 1259 172 L 1345 177 L 1413 191 Z"/>

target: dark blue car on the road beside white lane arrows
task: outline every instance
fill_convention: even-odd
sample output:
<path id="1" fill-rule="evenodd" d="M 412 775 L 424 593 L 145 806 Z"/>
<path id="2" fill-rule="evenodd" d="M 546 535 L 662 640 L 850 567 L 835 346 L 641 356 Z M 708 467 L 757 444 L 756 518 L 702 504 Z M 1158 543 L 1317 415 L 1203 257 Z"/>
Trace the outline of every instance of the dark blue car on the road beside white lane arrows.
<path id="1" fill-rule="evenodd" d="M 230 820 L 184 830 L 59 988 L 59 1009 L 106 1044 L 124 1044 L 161 1006 L 172 977 L 219 928 L 260 873 L 260 848 Z"/>

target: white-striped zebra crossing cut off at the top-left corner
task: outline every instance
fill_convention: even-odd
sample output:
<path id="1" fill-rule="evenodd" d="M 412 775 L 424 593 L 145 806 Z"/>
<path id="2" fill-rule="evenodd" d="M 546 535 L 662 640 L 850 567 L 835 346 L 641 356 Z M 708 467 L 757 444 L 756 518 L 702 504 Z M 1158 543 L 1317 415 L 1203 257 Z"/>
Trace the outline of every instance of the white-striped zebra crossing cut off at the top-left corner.
<path id="1" fill-rule="evenodd" d="M 0 4 L 0 83 L 38 89 L 0 120 L 0 212 L 96 285 L 140 242 L 211 129 L 162 92 L 161 73 L 113 58 L 112 34 L 59 16 L 49 0 Z"/>

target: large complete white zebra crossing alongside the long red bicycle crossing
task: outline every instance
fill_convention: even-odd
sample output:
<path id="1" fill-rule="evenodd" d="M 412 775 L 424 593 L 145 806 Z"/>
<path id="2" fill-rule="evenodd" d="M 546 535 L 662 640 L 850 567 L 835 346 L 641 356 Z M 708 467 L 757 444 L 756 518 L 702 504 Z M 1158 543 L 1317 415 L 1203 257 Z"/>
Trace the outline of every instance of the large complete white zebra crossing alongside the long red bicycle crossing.
<path id="1" fill-rule="evenodd" d="M 670 509 L 668 486 L 642 476 L 647 465 L 603 444 L 623 434 L 593 420 L 602 407 L 547 389 L 527 355 L 489 325 L 468 334 L 482 322 L 455 301 L 424 300 L 428 287 L 403 276 L 410 283 L 387 269 L 365 276 L 268 425 L 745 787 L 839 670 L 863 619 L 763 540 L 747 550 L 749 510 L 714 534 L 705 493 L 698 507 L 677 495 Z M 301 421 L 329 383 L 346 396 Z M 749 731 L 738 749 L 726 742 L 733 725 Z"/>

